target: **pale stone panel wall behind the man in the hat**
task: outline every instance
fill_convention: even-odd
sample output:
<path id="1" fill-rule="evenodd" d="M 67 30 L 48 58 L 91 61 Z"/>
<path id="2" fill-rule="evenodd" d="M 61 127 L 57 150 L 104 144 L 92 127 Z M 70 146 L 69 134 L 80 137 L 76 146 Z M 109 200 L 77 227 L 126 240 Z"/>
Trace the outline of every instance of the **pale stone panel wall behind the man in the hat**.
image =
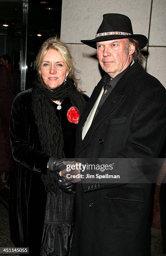
<path id="1" fill-rule="evenodd" d="M 146 71 L 166 87 L 166 0 L 63 0 L 61 40 L 68 44 L 78 73 L 78 86 L 91 95 L 101 79 L 96 50 L 81 44 L 93 39 L 104 13 L 127 15 L 133 33 L 148 37 Z"/>

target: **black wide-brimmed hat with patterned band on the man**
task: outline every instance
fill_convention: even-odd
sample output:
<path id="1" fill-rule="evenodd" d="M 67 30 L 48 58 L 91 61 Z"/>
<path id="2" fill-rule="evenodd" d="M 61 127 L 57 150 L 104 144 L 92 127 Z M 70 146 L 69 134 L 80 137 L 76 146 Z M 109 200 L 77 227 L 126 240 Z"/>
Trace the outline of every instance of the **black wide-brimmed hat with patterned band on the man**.
<path id="1" fill-rule="evenodd" d="M 148 42 L 146 36 L 134 35 L 131 20 L 126 15 L 119 13 L 104 14 L 103 21 L 98 28 L 95 38 L 92 40 L 81 40 L 81 42 L 96 48 L 96 42 L 113 40 L 116 38 L 133 38 L 138 41 L 140 49 L 145 47 Z"/>

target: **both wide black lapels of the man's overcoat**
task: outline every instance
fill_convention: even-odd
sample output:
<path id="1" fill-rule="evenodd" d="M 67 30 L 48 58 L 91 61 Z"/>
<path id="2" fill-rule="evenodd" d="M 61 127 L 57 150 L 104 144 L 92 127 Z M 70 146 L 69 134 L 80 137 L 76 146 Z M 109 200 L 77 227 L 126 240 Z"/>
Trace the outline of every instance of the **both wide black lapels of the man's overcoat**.
<path id="1" fill-rule="evenodd" d="M 90 100 L 88 104 L 86 105 L 86 110 L 84 110 L 84 113 L 82 115 L 81 121 L 79 123 L 79 129 L 77 133 L 77 141 L 79 139 L 79 150 L 77 151 L 77 154 L 79 154 L 80 151 L 83 150 L 84 147 L 89 143 L 91 140 L 91 137 L 93 136 L 93 133 L 95 132 L 96 128 L 100 123 L 107 118 L 107 116 L 113 112 L 119 105 L 119 103 L 123 100 L 125 97 L 125 91 L 128 87 L 128 84 L 131 82 L 132 77 L 135 75 L 135 72 L 138 72 L 138 69 L 140 69 L 139 65 L 137 63 L 134 63 L 121 77 L 121 79 L 117 82 L 116 86 L 114 87 L 113 91 L 108 95 L 107 100 L 103 103 L 101 106 L 101 109 L 99 110 L 98 114 L 96 115 L 96 118 L 93 120 L 91 127 L 89 128 L 84 140 L 82 140 L 82 131 L 81 128 L 83 124 L 86 121 L 86 118 L 88 117 L 89 113 L 91 112 L 91 109 L 93 108 L 94 103 L 96 102 L 96 99 L 101 92 L 101 88 L 103 86 L 103 79 L 99 82 L 97 87 L 94 89 L 93 94 L 90 97 Z"/>

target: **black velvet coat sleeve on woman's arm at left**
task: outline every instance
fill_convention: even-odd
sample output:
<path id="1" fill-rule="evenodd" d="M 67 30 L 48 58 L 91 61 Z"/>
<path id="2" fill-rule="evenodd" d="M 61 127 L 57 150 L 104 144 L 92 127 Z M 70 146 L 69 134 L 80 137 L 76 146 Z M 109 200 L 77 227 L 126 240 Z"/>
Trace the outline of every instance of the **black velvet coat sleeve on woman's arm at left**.
<path id="1" fill-rule="evenodd" d="M 10 118 L 10 143 L 13 158 L 27 168 L 46 174 L 50 155 L 44 154 L 30 141 L 30 129 L 33 129 L 31 118 L 32 99 L 30 92 L 22 92 L 14 102 Z"/>

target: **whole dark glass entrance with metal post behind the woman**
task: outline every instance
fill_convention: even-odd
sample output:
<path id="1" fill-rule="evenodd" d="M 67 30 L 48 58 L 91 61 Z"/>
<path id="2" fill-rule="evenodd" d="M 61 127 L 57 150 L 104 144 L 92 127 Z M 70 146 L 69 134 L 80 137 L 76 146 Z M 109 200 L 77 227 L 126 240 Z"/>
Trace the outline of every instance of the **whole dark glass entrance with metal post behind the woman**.
<path id="1" fill-rule="evenodd" d="M 61 10 L 62 0 L 0 0 L 0 56 L 11 58 L 15 95 L 32 87 L 43 42 L 60 38 Z"/>

